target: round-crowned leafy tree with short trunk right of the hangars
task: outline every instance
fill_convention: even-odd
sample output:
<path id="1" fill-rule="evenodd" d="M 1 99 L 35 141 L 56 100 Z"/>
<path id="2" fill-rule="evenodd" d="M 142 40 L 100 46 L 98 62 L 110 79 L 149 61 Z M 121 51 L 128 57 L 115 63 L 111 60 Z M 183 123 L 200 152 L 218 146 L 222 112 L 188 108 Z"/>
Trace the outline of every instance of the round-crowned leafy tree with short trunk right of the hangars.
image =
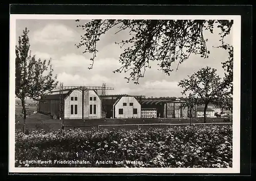
<path id="1" fill-rule="evenodd" d="M 229 98 L 232 96 L 230 80 L 226 77 L 221 79 L 216 71 L 216 69 L 207 66 L 178 84 L 184 88 L 182 94 L 193 92 L 194 96 L 199 97 L 198 102 L 204 104 L 204 123 L 206 123 L 206 110 L 209 102 L 224 108 L 229 105 Z"/>

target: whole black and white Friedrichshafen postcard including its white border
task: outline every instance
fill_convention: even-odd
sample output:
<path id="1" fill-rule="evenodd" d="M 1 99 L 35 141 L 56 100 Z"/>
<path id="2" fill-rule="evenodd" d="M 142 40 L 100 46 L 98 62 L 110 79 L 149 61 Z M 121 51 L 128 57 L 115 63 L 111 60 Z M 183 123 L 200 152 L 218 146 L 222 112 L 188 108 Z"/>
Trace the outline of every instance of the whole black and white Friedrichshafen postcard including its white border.
<path id="1" fill-rule="evenodd" d="M 237 15 L 11 14 L 9 171 L 239 173 L 240 44 Z"/>

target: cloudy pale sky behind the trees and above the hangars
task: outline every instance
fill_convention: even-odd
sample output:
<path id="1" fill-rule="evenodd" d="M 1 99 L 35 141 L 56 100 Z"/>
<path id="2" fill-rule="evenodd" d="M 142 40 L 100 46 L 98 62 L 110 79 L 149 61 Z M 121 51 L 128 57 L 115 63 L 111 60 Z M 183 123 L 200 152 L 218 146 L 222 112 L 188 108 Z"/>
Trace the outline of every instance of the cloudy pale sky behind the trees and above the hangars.
<path id="1" fill-rule="evenodd" d="M 200 68 L 210 66 L 216 68 L 223 76 L 221 62 L 228 59 L 227 51 L 214 48 L 220 45 L 218 31 L 214 34 L 205 33 L 204 37 L 209 41 L 207 48 L 210 50 L 208 59 L 199 55 L 191 55 L 188 60 L 179 66 L 178 71 L 173 71 L 170 76 L 158 70 L 157 61 L 151 62 L 151 69 L 146 70 L 145 77 L 141 78 L 139 85 L 133 82 L 127 83 L 124 73 L 113 73 L 119 68 L 119 56 L 123 52 L 115 42 L 127 38 L 127 34 L 120 32 L 114 34 L 112 30 L 100 38 L 97 49 L 98 54 L 94 61 L 93 69 L 89 70 L 91 61 L 90 54 L 82 54 L 83 48 L 77 48 L 75 44 L 80 41 L 84 34 L 78 24 L 89 20 L 44 20 L 22 19 L 16 20 L 16 40 L 23 34 L 27 27 L 30 31 L 29 38 L 32 54 L 36 58 L 52 58 L 54 74 L 57 74 L 59 82 L 64 86 L 101 86 L 113 87 L 114 91 L 106 91 L 106 94 L 132 94 L 145 95 L 146 97 L 181 96 L 182 89 L 177 86 L 178 82 L 193 74 Z M 231 44 L 232 31 L 225 38 Z M 175 69 L 175 68 L 174 68 Z"/>

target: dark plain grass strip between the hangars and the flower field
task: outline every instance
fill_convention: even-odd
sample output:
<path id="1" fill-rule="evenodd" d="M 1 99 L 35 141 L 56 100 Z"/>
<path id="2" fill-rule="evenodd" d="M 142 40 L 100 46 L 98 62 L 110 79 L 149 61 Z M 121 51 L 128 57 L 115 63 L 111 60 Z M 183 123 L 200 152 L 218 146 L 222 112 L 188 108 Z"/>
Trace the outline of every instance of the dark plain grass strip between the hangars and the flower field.
<path id="1" fill-rule="evenodd" d="M 35 111 L 36 106 L 27 106 L 27 110 Z M 15 113 L 18 115 L 22 112 L 22 106 L 16 105 Z M 207 123 L 223 123 L 226 122 L 225 118 L 207 118 Z M 57 131 L 62 127 L 62 122 L 66 126 L 65 130 L 80 128 L 81 130 L 91 130 L 93 127 L 98 128 L 98 125 L 109 125 L 101 126 L 102 128 L 111 129 L 116 128 L 125 128 L 125 130 L 134 130 L 138 128 L 137 125 L 124 126 L 124 124 L 189 124 L 189 118 L 137 118 L 137 119 L 52 119 L 51 116 L 40 114 L 40 113 L 31 113 L 27 115 L 26 127 L 30 131 L 35 130 L 45 130 L 46 132 Z M 203 123 L 203 118 L 193 118 L 193 123 Z M 16 116 L 15 118 L 15 128 L 20 130 L 23 128 L 23 117 Z M 114 124 L 122 124 L 119 126 L 111 126 Z M 87 127 L 83 127 L 83 126 Z M 143 125 L 141 128 L 150 128 L 150 127 L 169 127 L 165 125 Z"/>

